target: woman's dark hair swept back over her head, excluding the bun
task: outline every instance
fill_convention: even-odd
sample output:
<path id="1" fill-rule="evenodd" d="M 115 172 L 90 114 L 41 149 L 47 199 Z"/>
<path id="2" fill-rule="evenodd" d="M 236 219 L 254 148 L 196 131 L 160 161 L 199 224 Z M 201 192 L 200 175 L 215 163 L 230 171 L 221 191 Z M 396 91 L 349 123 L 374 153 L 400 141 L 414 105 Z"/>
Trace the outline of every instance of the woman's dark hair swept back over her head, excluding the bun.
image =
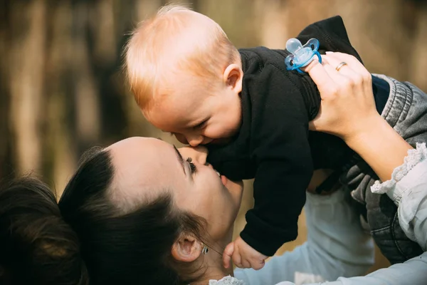
<path id="1" fill-rule="evenodd" d="M 90 283 L 189 284 L 188 264 L 180 266 L 170 252 L 182 232 L 200 237 L 205 221 L 175 209 L 170 195 L 124 212 L 111 202 L 113 177 L 110 152 L 91 150 L 59 201 L 80 239 Z"/>

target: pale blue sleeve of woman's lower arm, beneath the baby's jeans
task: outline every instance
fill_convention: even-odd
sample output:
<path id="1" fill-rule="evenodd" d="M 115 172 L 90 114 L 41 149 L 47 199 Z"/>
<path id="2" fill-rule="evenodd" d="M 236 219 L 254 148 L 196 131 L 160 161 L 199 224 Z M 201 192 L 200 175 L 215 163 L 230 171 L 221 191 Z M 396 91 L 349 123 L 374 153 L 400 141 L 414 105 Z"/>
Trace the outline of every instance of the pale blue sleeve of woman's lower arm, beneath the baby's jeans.
<path id="1" fill-rule="evenodd" d="M 305 214 L 308 228 L 305 244 L 273 257 L 259 271 L 236 269 L 236 278 L 248 285 L 284 280 L 302 284 L 361 275 L 374 263 L 373 242 L 363 232 L 359 217 L 349 207 L 343 191 L 329 196 L 307 193 Z"/>

